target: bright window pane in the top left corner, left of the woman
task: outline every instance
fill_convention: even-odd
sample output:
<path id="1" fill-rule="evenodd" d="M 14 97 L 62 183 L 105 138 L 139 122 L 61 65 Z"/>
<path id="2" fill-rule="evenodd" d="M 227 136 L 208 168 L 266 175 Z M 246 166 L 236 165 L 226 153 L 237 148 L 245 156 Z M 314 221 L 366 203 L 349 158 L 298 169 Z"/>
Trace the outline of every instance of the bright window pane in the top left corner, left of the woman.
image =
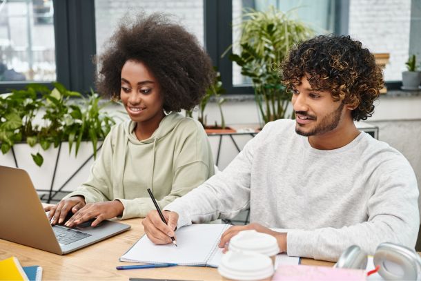
<path id="1" fill-rule="evenodd" d="M 54 81 L 52 0 L 0 3 L 0 83 Z"/>

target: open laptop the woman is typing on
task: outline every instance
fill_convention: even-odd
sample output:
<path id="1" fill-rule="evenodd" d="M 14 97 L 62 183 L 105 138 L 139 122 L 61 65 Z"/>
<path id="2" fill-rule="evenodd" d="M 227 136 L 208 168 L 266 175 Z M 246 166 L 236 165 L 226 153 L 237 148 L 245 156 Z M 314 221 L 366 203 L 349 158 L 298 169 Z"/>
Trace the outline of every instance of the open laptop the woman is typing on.
<path id="1" fill-rule="evenodd" d="M 128 229 L 109 220 L 95 227 L 51 226 L 28 173 L 0 166 L 0 239 L 63 255 Z"/>

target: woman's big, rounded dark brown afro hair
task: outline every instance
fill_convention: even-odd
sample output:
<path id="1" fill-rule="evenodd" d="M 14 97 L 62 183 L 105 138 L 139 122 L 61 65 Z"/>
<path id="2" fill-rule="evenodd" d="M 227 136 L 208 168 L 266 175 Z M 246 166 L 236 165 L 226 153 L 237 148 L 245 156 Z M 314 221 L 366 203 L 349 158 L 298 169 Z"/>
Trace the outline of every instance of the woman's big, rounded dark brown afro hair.
<path id="1" fill-rule="evenodd" d="M 120 98 L 121 68 L 129 59 L 141 61 L 153 73 L 166 111 L 199 104 L 215 77 L 210 57 L 196 37 L 165 14 L 140 13 L 120 21 L 105 52 L 95 58 L 98 93 Z"/>

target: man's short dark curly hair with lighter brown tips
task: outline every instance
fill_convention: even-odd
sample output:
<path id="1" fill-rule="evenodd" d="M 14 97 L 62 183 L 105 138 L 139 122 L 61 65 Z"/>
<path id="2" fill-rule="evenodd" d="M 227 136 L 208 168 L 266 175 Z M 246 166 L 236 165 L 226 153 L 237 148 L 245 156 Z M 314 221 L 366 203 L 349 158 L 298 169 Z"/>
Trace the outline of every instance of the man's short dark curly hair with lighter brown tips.
<path id="1" fill-rule="evenodd" d="M 365 120 L 383 88 L 382 70 L 360 41 L 344 35 L 320 35 L 299 43 L 282 64 L 288 91 L 306 75 L 311 88 L 331 92 L 335 101 L 354 106 L 354 120 Z"/>

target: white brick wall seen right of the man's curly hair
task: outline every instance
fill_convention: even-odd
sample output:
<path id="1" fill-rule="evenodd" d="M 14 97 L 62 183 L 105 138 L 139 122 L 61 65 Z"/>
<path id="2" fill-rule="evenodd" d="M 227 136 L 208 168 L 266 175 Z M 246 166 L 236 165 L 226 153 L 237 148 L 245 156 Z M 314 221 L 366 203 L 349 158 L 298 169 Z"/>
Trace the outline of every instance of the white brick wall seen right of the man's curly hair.
<path id="1" fill-rule="evenodd" d="M 411 0 L 351 0 L 349 35 L 371 52 L 389 52 L 384 79 L 401 80 L 409 52 Z"/>

